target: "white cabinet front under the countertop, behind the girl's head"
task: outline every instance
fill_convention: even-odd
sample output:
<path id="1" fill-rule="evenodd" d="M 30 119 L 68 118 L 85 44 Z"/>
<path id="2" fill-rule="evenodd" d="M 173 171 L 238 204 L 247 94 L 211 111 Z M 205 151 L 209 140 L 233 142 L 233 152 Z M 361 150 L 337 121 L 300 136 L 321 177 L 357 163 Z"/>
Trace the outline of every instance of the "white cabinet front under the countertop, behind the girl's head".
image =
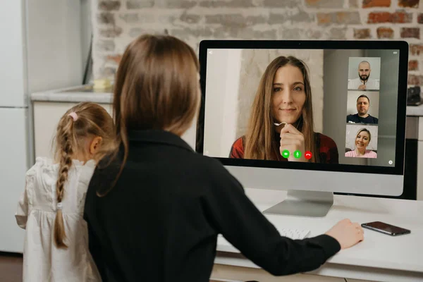
<path id="1" fill-rule="evenodd" d="M 78 103 L 34 102 L 35 157 L 53 157 L 53 139 L 63 114 Z M 111 104 L 100 104 L 112 115 Z"/>

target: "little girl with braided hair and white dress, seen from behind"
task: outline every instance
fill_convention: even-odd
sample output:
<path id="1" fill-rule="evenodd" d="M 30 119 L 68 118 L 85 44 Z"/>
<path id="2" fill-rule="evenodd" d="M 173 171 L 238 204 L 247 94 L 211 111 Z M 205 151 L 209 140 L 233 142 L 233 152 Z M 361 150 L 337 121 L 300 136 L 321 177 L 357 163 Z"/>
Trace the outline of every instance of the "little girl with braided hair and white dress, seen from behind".
<path id="1" fill-rule="evenodd" d="M 37 158 L 26 173 L 16 221 L 26 229 L 23 281 L 101 281 L 82 218 L 97 161 L 115 147 L 114 122 L 98 104 L 83 102 L 59 121 L 56 161 Z"/>

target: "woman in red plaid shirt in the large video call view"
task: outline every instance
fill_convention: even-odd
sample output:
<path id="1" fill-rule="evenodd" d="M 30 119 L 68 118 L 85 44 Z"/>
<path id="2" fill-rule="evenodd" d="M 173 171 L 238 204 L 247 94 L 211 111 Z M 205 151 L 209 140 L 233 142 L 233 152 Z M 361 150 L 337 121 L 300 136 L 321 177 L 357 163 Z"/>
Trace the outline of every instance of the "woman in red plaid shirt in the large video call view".
<path id="1" fill-rule="evenodd" d="M 305 152 L 311 152 L 311 159 Z M 338 164 L 336 143 L 313 130 L 312 90 L 304 62 L 279 56 L 267 66 L 247 134 L 235 140 L 229 157 Z"/>

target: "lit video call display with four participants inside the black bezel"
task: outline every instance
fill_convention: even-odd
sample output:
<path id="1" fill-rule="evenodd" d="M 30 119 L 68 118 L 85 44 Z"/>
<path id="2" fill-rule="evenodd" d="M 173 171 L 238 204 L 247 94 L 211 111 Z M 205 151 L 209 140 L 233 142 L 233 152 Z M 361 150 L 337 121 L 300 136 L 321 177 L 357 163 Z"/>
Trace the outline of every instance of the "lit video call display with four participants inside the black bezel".
<path id="1" fill-rule="evenodd" d="M 395 166 L 398 50 L 208 49 L 210 157 Z"/>

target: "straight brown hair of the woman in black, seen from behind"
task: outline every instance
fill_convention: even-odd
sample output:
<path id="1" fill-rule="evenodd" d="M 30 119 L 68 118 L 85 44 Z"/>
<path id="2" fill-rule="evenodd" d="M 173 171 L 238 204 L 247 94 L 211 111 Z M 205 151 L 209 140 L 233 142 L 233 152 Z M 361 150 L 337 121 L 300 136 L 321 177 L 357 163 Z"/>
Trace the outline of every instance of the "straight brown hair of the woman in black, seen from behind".
<path id="1" fill-rule="evenodd" d="M 130 130 L 161 129 L 182 135 L 190 128 L 201 99 L 198 71 L 195 51 L 176 37 L 142 35 L 125 49 L 113 103 L 117 150 L 123 149 L 123 157 L 111 188 L 128 158 Z"/>

